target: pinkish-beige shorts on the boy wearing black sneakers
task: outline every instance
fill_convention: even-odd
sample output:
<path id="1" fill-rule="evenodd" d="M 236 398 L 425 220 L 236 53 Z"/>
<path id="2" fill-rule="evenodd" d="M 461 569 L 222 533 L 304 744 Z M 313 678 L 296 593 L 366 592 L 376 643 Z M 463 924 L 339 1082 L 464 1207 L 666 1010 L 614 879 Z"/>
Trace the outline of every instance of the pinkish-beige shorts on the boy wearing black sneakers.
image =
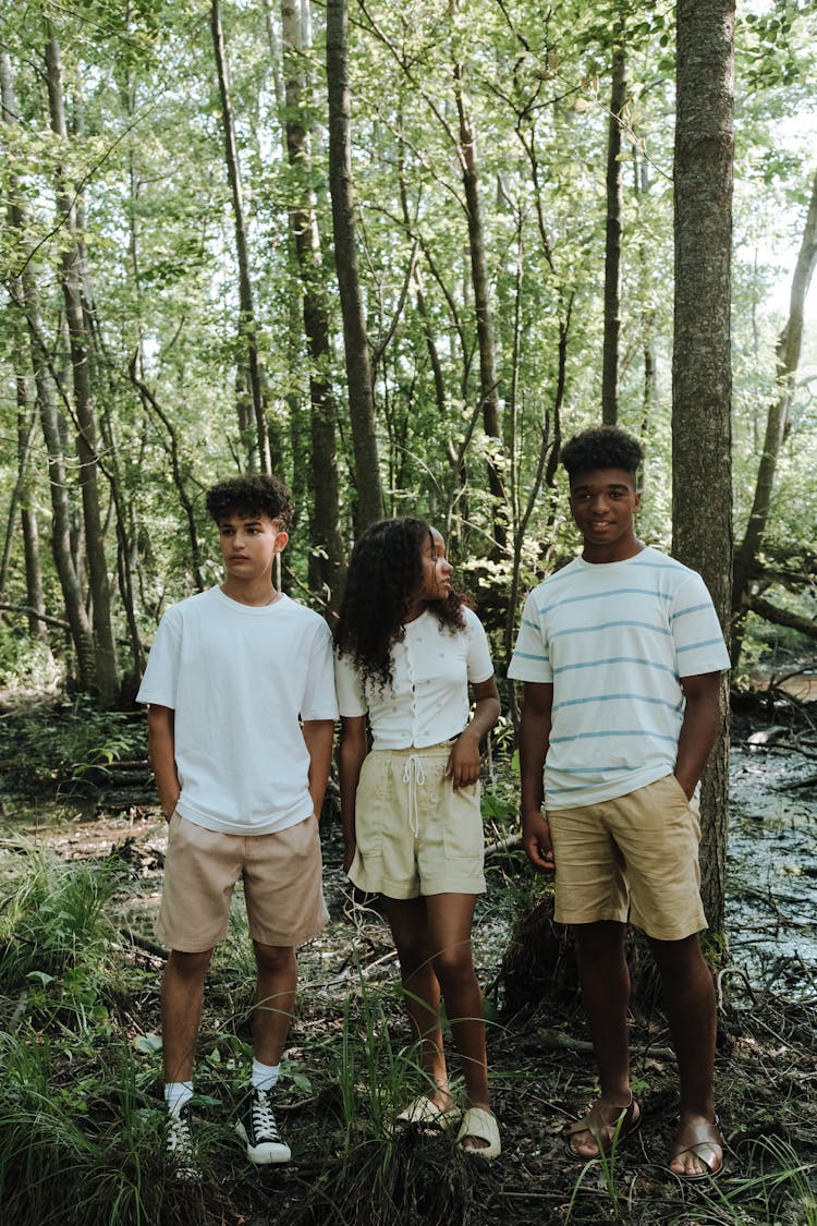
<path id="1" fill-rule="evenodd" d="M 178 813 L 170 818 L 164 889 L 156 934 L 169 949 L 196 954 L 224 939 L 230 897 L 244 880 L 250 937 L 293 946 L 328 918 L 315 818 L 271 835 L 224 835 Z"/>

